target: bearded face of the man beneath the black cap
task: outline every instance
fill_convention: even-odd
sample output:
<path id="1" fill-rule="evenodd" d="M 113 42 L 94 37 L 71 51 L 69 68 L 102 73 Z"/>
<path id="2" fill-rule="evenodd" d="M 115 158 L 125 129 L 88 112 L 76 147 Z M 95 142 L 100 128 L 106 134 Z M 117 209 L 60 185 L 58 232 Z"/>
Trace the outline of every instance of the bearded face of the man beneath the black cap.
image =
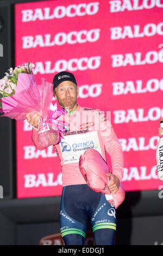
<path id="1" fill-rule="evenodd" d="M 79 88 L 71 81 L 64 81 L 55 88 L 54 97 L 57 98 L 60 107 L 72 109 L 77 103 Z"/>

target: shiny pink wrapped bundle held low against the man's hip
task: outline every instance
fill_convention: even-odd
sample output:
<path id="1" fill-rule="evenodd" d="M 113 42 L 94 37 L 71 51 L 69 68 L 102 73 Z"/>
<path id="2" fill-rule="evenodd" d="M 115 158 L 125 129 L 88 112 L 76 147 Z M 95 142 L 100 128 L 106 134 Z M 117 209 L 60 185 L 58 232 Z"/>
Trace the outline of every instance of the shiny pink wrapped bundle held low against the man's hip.
<path id="1" fill-rule="evenodd" d="M 97 150 L 87 149 L 85 153 L 80 156 L 79 168 L 87 185 L 89 185 L 92 190 L 111 195 L 112 199 L 109 199 L 108 202 L 112 206 L 115 206 L 115 209 L 122 204 L 125 197 L 124 188 L 120 183 L 120 187 L 115 194 L 110 192 L 108 187 L 110 178 L 106 175 L 110 170 L 108 164 L 106 164 Z"/>

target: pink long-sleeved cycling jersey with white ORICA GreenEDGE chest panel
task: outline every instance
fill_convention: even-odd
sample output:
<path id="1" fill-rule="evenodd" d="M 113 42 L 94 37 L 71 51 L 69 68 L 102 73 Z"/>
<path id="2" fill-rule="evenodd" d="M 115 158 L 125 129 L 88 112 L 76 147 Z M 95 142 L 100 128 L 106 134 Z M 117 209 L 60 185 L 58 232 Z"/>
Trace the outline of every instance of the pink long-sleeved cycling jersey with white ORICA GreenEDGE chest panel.
<path id="1" fill-rule="evenodd" d="M 64 120 L 68 126 L 62 133 L 60 143 L 54 148 L 60 158 L 63 186 L 86 184 L 79 169 L 80 155 L 86 149 L 96 149 L 106 161 L 105 153 L 110 155 L 112 174 L 120 181 L 123 178 L 123 152 L 120 142 L 115 135 L 108 115 L 95 108 L 85 108 L 78 104 L 73 113 L 60 115 L 59 120 Z M 33 129 L 32 140 L 36 148 L 44 148 L 37 140 L 37 131 Z"/>

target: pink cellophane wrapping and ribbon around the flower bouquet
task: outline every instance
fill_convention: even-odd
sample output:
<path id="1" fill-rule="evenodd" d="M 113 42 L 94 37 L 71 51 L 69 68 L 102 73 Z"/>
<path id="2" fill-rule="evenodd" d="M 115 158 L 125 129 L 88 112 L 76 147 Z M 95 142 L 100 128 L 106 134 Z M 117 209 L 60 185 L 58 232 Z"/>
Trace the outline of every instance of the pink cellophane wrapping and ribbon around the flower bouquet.
<path id="1" fill-rule="evenodd" d="M 1 117 L 24 121 L 29 112 L 38 112 L 41 115 L 43 129 L 46 130 L 47 123 L 49 131 L 41 132 L 38 139 L 43 147 L 59 141 L 60 133 L 65 131 L 64 123 L 55 120 L 59 115 L 64 114 L 62 108 L 57 109 L 57 103 L 52 108 L 53 84 L 41 78 L 41 84 L 37 85 L 34 75 L 18 74 L 17 87 L 14 95 L 2 97 Z"/>

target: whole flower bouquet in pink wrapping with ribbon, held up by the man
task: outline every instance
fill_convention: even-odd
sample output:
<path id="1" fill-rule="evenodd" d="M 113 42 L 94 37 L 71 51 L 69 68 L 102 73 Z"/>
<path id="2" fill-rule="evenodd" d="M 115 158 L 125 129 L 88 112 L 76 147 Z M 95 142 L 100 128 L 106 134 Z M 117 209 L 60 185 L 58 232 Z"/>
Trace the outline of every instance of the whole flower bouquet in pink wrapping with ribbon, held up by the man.
<path id="1" fill-rule="evenodd" d="M 9 117 L 15 120 L 25 120 L 29 112 L 39 112 L 41 123 L 39 126 L 39 141 L 43 146 L 48 145 L 49 134 L 53 132 L 57 138 L 61 138 L 65 123 L 57 119 L 65 114 L 65 110 L 52 108 L 53 84 L 41 78 L 41 84 L 37 85 L 33 71 L 34 64 L 29 63 L 10 68 L 0 80 L 0 112 L 1 117 Z M 48 127 L 48 129 L 47 129 Z M 49 128 L 50 127 L 50 128 Z M 42 132 L 46 132 L 43 135 Z"/>

